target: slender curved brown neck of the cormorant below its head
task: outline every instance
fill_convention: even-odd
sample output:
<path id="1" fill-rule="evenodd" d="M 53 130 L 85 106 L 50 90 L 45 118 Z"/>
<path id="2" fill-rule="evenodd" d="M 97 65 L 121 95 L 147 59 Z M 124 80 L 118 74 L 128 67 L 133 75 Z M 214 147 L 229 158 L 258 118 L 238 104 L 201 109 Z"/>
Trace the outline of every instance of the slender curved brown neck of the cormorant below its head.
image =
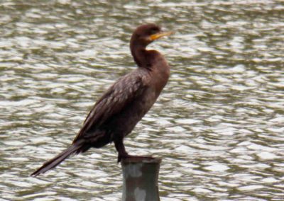
<path id="1" fill-rule="evenodd" d="M 131 54 L 138 67 L 151 69 L 151 57 L 144 46 L 131 47 Z"/>

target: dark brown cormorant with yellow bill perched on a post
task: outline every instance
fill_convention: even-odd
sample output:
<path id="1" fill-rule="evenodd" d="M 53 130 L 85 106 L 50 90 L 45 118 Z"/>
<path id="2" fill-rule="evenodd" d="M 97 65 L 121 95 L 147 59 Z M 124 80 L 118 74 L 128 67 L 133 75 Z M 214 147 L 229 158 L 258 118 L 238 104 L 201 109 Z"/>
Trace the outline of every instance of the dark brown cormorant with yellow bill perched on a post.
<path id="1" fill-rule="evenodd" d="M 31 176 L 38 176 L 55 168 L 68 156 L 83 153 L 90 148 L 104 147 L 114 143 L 121 159 L 151 156 L 133 156 L 124 147 L 126 137 L 157 100 L 167 84 L 170 66 L 163 54 L 157 50 L 146 50 L 151 42 L 168 36 L 159 25 L 139 25 L 131 35 L 130 50 L 137 67 L 121 76 L 94 104 L 80 132 L 70 147 L 53 159 L 43 163 Z"/>

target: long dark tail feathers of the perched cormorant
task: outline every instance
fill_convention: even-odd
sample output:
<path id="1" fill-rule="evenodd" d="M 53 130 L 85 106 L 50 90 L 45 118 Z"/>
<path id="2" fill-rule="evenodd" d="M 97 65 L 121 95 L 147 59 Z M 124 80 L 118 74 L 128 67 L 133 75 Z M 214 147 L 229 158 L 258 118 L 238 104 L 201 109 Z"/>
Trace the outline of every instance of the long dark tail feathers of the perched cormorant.
<path id="1" fill-rule="evenodd" d="M 43 163 L 43 166 L 38 168 L 37 171 L 34 173 L 31 173 L 31 176 L 38 176 L 41 173 L 45 173 L 49 171 L 51 168 L 55 168 L 55 166 L 58 166 L 62 161 L 68 158 L 68 156 L 72 154 L 78 154 L 80 153 L 80 149 L 82 149 L 82 141 L 77 141 L 75 144 L 72 144 L 70 147 L 65 149 L 65 151 L 62 151 L 58 156 L 55 156 L 53 159 L 50 159 L 49 161 L 46 161 Z"/>

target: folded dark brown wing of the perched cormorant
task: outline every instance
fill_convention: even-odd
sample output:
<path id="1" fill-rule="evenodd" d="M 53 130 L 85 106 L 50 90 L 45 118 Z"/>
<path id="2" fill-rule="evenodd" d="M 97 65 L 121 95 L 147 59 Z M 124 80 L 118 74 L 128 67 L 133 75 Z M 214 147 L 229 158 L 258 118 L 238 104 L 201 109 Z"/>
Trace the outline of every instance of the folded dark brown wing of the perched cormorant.
<path id="1" fill-rule="evenodd" d="M 73 143 L 84 137 L 89 130 L 94 130 L 113 115 L 123 110 L 131 101 L 145 90 L 146 84 L 138 74 L 127 74 L 121 77 L 112 85 L 102 98 L 94 104 L 94 107 L 87 115 L 80 132 Z"/>

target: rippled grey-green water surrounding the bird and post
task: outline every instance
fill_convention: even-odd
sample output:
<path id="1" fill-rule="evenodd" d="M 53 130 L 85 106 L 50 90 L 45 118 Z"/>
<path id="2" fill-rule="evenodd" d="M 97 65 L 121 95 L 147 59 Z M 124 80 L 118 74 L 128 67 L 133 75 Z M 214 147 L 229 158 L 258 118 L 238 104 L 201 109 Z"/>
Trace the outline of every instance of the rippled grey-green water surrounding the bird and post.
<path id="1" fill-rule="evenodd" d="M 283 200 L 283 1 L 12 1 L 0 4 L 1 200 L 121 200 L 111 144 L 28 175 L 65 149 L 114 80 L 133 69 L 131 31 L 172 66 L 126 139 L 163 157 L 161 200 Z"/>

